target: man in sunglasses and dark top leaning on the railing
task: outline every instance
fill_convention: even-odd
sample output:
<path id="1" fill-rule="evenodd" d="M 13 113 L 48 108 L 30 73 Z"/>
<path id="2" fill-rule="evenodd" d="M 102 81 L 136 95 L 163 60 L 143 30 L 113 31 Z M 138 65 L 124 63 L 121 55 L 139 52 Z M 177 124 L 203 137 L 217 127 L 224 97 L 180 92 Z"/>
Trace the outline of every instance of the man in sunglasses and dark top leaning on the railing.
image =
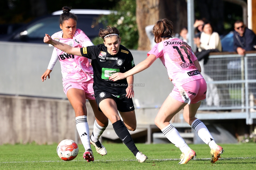
<path id="1" fill-rule="evenodd" d="M 237 20 L 234 30 L 234 51 L 244 55 L 246 51 L 255 50 L 256 35 L 244 25 L 243 21 Z"/>

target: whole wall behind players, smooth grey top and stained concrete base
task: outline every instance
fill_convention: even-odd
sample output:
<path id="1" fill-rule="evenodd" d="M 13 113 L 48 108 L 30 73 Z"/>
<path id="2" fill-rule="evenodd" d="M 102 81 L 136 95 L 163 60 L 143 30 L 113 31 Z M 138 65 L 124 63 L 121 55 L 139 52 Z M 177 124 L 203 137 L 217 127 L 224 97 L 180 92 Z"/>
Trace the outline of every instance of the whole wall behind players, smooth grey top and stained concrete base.
<path id="1" fill-rule="evenodd" d="M 77 138 L 74 110 L 63 92 L 58 61 L 50 79 L 41 81 L 52 50 L 47 44 L 0 42 L 0 144 L 51 144 Z M 145 51 L 131 52 L 135 64 L 146 58 Z M 154 124 L 159 107 L 173 88 L 166 68 L 156 60 L 134 76 L 134 83 L 142 84 L 134 87 L 137 124 Z M 89 103 L 87 109 L 88 124 L 93 126 Z"/>

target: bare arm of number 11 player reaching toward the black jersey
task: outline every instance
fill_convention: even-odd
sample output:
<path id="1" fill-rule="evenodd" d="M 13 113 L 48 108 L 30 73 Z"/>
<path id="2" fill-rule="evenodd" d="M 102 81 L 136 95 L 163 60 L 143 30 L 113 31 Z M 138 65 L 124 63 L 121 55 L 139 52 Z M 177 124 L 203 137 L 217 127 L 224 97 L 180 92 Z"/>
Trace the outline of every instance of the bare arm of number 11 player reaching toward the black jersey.
<path id="1" fill-rule="evenodd" d="M 147 69 L 148 67 L 150 67 L 151 64 L 154 63 L 155 60 L 156 60 L 156 56 L 153 54 L 150 54 L 146 60 L 140 62 L 138 65 L 136 65 L 131 70 L 126 71 L 125 73 L 114 73 L 110 77 L 110 80 L 117 81 L 117 80 L 125 79 L 128 76 L 131 76 L 138 72 L 141 72 L 141 71 Z"/>

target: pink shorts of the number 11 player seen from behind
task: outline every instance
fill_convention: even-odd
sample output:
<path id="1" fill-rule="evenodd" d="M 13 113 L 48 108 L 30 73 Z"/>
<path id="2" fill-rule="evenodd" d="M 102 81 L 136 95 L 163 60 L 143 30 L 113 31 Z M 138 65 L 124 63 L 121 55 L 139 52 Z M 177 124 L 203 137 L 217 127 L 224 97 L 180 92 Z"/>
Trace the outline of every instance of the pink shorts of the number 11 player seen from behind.
<path id="1" fill-rule="evenodd" d="M 182 103 L 198 103 L 206 99 L 207 84 L 204 78 L 193 80 L 180 87 L 174 86 L 169 94 L 172 98 Z"/>

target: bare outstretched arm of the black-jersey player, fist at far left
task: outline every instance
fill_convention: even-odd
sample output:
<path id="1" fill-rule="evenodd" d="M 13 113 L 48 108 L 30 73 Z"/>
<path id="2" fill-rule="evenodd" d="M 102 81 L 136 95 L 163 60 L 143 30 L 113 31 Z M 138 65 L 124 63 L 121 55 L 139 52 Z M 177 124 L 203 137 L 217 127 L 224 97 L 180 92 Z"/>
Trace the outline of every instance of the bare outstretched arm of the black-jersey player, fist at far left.
<path id="1" fill-rule="evenodd" d="M 51 44 L 52 46 L 68 53 L 68 54 L 73 54 L 73 55 L 78 55 L 78 56 L 82 56 L 80 48 L 76 48 L 76 47 L 71 47 L 67 44 L 63 44 L 61 42 L 55 41 L 51 38 L 51 36 L 49 36 L 48 34 L 45 34 L 44 37 L 44 42 L 46 44 Z"/>

